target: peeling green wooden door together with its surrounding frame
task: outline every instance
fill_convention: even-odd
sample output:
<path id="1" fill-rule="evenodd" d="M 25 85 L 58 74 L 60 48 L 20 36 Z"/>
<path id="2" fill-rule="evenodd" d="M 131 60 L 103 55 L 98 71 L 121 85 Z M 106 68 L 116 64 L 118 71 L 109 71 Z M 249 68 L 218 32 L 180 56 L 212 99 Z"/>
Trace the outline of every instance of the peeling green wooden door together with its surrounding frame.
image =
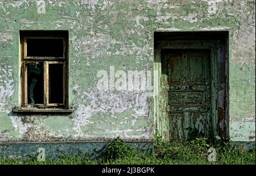
<path id="1" fill-rule="evenodd" d="M 193 40 L 156 45 L 155 129 L 163 139 L 217 135 L 217 47 L 216 41 Z"/>

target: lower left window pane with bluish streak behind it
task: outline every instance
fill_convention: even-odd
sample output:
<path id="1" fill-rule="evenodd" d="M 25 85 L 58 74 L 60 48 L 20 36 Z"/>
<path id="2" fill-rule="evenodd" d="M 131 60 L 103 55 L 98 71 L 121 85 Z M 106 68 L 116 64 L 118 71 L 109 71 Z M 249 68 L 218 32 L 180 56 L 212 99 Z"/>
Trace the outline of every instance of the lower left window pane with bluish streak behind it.
<path id="1" fill-rule="evenodd" d="M 43 62 L 27 64 L 27 103 L 43 104 Z"/>

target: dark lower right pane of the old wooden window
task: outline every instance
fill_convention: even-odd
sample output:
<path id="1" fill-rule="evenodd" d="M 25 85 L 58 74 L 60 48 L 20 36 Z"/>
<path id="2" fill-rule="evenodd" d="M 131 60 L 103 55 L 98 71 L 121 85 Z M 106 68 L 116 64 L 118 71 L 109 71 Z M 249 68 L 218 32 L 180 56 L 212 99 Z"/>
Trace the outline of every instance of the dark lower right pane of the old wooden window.
<path id="1" fill-rule="evenodd" d="M 63 64 L 49 64 L 49 103 L 63 103 Z"/>

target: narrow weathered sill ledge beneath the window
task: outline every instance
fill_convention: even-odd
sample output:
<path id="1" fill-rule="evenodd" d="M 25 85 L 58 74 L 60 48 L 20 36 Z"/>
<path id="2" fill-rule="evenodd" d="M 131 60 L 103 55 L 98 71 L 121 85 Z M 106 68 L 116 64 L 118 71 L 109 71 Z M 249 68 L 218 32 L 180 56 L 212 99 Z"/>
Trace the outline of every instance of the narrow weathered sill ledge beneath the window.
<path id="1" fill-rule="evenodd" d="M 60 109 L 60 108 L 48 108 L 48 109 L 40 109 L 40 108 L 14 108 L 13 112 L 15 113 L 66 113 L 66 114 L 71 114 L 73 110 L 71 109 Z"/>

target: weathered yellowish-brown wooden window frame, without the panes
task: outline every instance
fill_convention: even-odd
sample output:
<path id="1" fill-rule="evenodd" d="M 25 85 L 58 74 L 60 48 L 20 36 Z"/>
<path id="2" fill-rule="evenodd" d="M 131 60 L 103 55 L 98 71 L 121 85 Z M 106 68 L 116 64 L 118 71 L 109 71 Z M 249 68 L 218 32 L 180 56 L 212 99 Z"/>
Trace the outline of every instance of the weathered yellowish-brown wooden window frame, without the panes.
<path id="1" fill-rule="evenodd" d="M 48 34 L 48 33 L 47 33 Z M 21 37 L 21 107 L 25 109 L 56 109 L 68 108 L 68 53 L 67 53 L 67 36 L 22 36 Z M 63 57 L 32 57 L 27 56 L 27 39 L 63 39 Z M 43 62 L 43 104 L 28 104 L 27 97 L 27 64 L 36 64 Z M 63 102 L 49 103 L 49 64 L 63 64 Z"/>

